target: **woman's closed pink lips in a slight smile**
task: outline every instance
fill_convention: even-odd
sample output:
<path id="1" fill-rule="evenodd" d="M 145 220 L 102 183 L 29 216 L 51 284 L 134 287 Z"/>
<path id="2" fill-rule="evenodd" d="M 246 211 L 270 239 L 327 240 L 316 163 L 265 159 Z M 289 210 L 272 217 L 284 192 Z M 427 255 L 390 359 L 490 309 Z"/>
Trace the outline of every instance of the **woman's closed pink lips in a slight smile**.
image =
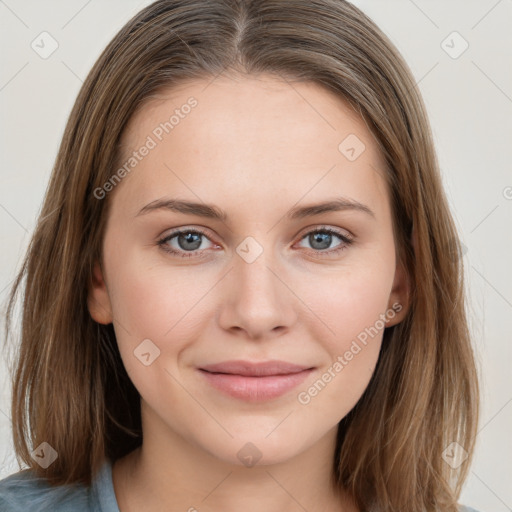
<path id="1" fill-rule="evenodd" d="M 225 361 L 199 368 L 207 381 L 228 395 L 257 402 L 283 395 L 303 382 L 313 371 L 285 361 Z"/>

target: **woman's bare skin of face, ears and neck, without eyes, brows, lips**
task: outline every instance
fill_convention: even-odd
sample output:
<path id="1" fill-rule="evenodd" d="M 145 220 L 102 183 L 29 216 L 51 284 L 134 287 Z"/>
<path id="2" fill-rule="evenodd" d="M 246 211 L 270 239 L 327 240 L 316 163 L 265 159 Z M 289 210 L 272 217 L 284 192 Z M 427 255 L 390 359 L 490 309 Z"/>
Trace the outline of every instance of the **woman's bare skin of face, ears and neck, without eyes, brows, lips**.
<path id="1" fill-rule="evenodd" d="M 407 311 L 382 156 L 339 97 L 272 75 L 220 76 L 163 92 L 129 123 L 126 154 L 190 96 L 198 105 L 110 192 L 103 261 L 89 293 L 92 317 L 113 322 L 141 395 L 143 445 L 113 468 L 120 510 L 355 511 L 330 483 L 332 454 L 337 424 L 375 368 L 383 328 L 308 404 L 297 395 L 393 303 L 402 309 L 386 326 Z M 354 161 L 338 149 L 349 134 L 366 146 Z M 285 218 L 294 206 L 341 196 L 374 216 L 347 209 Z M 137 215 L 163 197 L 215 204 L 228 218 Z M 308 237 L 322 227 L 353 243 L 333 254 L 345 245 L 333 235 L 322 252 Z M 195 256 L 158 245 L 176 228 L 206 232 Z M 236 252 L 248 236 L 263 249 L 252 263 Z M 177 237 L 167 245 L 187 253 Z M 160 350 L 148 366 L 134 356 L 144 339 Z M 197 370 L 230 359 L 315 370 L 291 392 L 250 403 L 217 391 Z M 261 453 L 253 467 L 237 457 L 248 442 Z"/>

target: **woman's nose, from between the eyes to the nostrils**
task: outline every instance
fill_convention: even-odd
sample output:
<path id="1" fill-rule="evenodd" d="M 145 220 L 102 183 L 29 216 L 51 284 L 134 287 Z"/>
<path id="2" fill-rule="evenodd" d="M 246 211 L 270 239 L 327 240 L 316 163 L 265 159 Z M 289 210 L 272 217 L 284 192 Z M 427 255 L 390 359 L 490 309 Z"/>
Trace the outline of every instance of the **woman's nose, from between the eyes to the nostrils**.
<path id="1" fill-rule="evenodd" d="M 270 249 L 254 261 L 240 254 L 234 253 L 231 271 L 223 279 L 220 326 L 249 339 L 284 334 L 296 321 L 299 301 L 283 266 Z"/>

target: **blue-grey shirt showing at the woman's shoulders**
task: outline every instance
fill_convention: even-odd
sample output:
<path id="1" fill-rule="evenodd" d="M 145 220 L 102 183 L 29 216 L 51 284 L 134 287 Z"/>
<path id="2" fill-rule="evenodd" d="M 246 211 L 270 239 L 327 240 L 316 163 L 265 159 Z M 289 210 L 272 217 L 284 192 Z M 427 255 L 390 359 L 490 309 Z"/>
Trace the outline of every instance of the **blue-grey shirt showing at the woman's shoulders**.
<path id="1" fill-rule="evenodd" d="M 44 479 L 36 478 L 31 470 L 24 470 L 0 480 L 1 512 L 119 512 L 112 464 L 101 467 L 92 485 L 64 485 L 52 487 Z M 460 512 L 477 512 L 461 506 Z"/>

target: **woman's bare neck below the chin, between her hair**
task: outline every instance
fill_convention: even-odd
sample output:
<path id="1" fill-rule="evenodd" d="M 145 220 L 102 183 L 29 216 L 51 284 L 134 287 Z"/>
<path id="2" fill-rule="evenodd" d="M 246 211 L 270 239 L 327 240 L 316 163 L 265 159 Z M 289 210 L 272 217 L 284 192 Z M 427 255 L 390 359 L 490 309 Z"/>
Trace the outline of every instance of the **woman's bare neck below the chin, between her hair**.
<path id="1" fill-rule="evenodd" d="M 356 512 L 332 483 L 336 428 L 291 460 L 246 467 L 219 460 L 154 418 L 145 423 L 142 446 L 113 466 L 120 512 Z"/>

